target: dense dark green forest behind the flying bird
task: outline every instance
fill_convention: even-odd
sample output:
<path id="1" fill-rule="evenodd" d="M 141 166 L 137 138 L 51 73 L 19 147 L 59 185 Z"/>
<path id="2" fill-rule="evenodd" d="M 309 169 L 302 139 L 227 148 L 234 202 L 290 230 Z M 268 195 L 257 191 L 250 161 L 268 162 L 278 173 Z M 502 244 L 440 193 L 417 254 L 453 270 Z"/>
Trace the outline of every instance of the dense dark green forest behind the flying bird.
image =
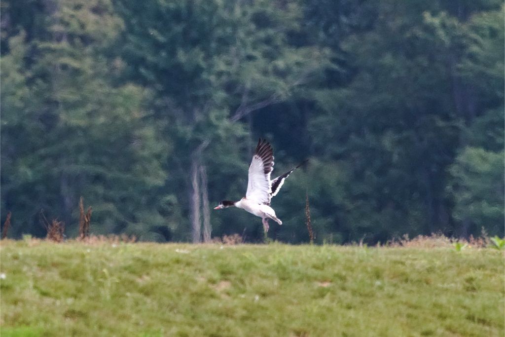
<path id="1" fill-rule="evenodd" d="M 263 239 L 237 209 L 259 137 L 269 236 L 503 235 L 502 0 L 3 0 L 1 220 L 140 240 Z M 276 174 L 277 173 L 277 174 Z"/>

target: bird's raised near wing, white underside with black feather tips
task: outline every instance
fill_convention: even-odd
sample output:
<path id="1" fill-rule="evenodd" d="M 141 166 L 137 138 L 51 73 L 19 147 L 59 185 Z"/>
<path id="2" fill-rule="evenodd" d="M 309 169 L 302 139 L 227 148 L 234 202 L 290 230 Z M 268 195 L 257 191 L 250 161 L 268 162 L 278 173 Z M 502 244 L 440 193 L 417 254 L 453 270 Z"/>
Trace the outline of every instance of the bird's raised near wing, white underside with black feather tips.
<path id="1" fill-rule="evenodd" d="M 249 166 L 245 198 L 259 204 L 270 204 L 272 193 L 270 174 L 274 169 L 273 166 L 274 151 L 272 146 L 260 138 Z"/>

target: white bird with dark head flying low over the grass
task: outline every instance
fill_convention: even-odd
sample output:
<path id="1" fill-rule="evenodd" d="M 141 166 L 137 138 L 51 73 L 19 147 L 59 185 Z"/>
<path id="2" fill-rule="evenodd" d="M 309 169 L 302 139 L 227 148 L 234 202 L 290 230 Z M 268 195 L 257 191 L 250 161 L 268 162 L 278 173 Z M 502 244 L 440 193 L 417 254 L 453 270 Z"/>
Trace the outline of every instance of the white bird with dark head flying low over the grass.
<path id="1" fill-rule="evenodd" d="M 306 161 L 300 163 L 298 166 L 286 173 L 281 174 L 274 180 L 270 180 L 270 174 L 274 169 L 274 151 L 270 143 L 268 143 L 265 139 L 260 138 L 249 166 L 245 197 L 235 202 L 223 200 L 214 209 L 219 210 L 235 206 L 259 216 L 263 220 L 263 229 L 265 232 L 267 232 L 269 228 L 268 219 L 272 219 L 279 225 L 282 225 L 282 221 L 277 218 L 275 211 L 272 207 L 270 207 L 270 200 L 272 197 L 277 195 L 282 187 L 282 184 L 284 184 L 284 180 L 291 174 L 291 172 L 300 167 Z"/>

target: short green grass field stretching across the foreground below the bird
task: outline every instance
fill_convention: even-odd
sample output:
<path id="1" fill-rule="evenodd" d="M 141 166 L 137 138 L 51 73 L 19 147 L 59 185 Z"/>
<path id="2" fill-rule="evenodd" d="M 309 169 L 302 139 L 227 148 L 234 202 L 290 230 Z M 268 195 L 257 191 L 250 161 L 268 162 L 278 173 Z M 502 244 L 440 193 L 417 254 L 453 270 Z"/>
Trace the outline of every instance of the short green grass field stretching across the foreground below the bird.
<path id="1" fill-rule="evenodd" d="M 503 336 L 503 251 L 1 243 L 7 336 Z"/>

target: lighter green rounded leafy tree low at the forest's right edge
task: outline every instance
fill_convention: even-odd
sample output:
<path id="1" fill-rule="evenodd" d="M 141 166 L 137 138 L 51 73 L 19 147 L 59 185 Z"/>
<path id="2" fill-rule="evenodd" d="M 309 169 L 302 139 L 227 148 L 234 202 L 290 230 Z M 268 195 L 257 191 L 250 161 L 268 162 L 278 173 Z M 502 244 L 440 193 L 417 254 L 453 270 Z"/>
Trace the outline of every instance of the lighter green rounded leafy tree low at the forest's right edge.
<path id="1" fill-rule="evenodd" d="M 465 130 L 468 146 L 450 166 L 447 186 L 455 201 L 453 215 L 471 222 L 474 234 L 484 227 L 490 234 L 503 234 L 503 112 L 493 109 L 478 117 Z"/>

